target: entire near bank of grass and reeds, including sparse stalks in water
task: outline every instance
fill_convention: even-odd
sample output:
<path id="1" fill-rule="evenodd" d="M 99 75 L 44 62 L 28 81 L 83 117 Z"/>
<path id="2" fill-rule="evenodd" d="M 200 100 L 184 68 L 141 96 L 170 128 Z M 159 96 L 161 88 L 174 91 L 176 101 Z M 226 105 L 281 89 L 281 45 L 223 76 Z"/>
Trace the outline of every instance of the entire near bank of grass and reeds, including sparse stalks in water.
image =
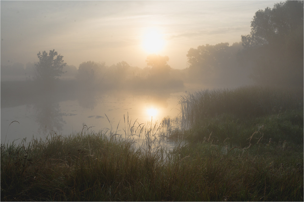
<path id="1" fill-rule="evenodd" d="M 1 144 L 1 201 L 303 201 L 302 87 L 197 91 L 180 108 L 125 117 L 124 134 Z"/>

